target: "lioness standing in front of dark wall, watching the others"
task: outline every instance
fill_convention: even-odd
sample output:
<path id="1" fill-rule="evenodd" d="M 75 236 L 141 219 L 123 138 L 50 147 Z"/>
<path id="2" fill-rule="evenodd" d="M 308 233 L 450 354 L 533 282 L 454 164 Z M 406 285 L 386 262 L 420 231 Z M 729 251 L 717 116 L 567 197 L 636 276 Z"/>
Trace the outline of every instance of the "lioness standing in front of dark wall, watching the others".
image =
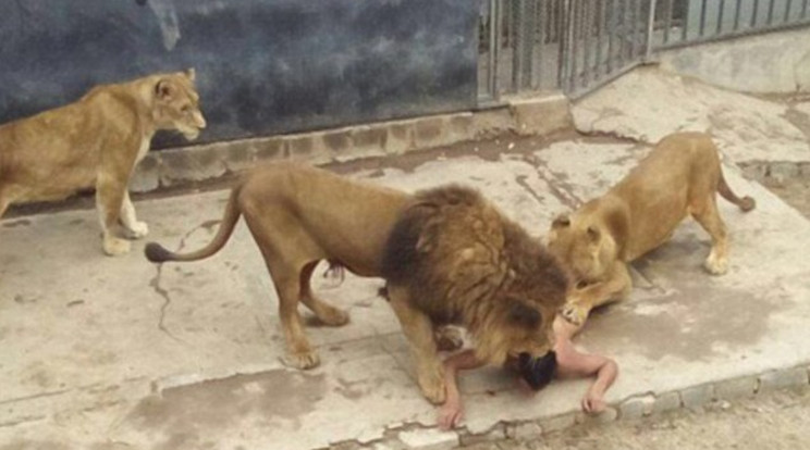
<path id="1" fill-rule="evenodd" d="M 194 70 L 90 89 L 79 100 L 0 125 L 0 217 L 13 203 L 61 200 L 96 188 L 103 250 L 115 255 L 149 228 L 135 216 L 127 184 L 159 129 L 196 139 L 206 121 Z"/>

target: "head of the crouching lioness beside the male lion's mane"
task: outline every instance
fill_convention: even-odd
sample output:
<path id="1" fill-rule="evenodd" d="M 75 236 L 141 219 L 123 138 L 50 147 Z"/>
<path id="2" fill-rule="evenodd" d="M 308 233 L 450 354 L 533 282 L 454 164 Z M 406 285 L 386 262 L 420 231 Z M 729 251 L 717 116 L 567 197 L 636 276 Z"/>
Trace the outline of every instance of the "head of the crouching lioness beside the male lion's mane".
<path id="1" fill-rule="evenodd" d="M 603 224 L 587 214 L 562 214 L 547 236 L 549 251 L 568 268 L 574 287 L 603 280 L 618 258 L 616 241 Z"/>

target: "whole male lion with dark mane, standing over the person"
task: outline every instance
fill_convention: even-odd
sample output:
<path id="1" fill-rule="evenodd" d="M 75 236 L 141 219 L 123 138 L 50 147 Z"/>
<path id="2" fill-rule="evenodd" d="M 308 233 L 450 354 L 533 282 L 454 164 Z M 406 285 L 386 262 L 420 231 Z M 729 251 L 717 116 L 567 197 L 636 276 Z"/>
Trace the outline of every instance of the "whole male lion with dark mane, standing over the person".
<path id="1" fill-rule="evenodd" d="M 287 346 L 283 361 L 298 368 L 310 368 L 317 366 L 320 359 L 304 333 L 298 303 L 304 303 L 326 325 L 342 326 L 348 322 L 345 311 L 319 299 L 312 292 L 310 277 L 318 262 L 328 261 L 333 267 L 346 267 L 359 276 L 383 276 L 383 252 L 391 232 L 405 211 L 421 211 L 422 207 L 408 210 L 412 204 L 421 205 L 421 201 L 418 196 L 353 180 L 306 164 L 269 163 L 248 172 L 236 183 L 219 230 L 206 247 L 188 253 L 175 253 L 150 242 L 146 246 L 145 253 L 152 262 L 197 261 L 208 258 L 224 247 L 236 222 L 244 215 L 279 297 L 279 316 Z M 431 222 L 431 229 L 435 233 L 430 236 L 430 241 L 435 243 L 435 248 L 444 250 L 455 246 L 456 249 L 464 250 L 471 247 L 471 253 L 435 253 L 431 261 L 446 264 L 452 263 L 454 258 L 468 258 L 468 263 L 453 265 L 465 272 L 453 273 L 452 278 L 443 286 L 455 283 L 457 288 L 475 288 L 472 277 L 491 273 L 492 277 L 499 279 L 501 287 L 496 292 L 501 297 L 498 298 L 504 303 L 494 305 L 492 297 L 479 304 L 468 303 L 469 308 L 459 309 L 462 303 L 475 300 L 472 292 L 467 291 L 447 298 L 455 303 L 434 303 L 432 308 L 437 312 L 444 311 L 444 314 L 437 315 L 438 318 L 469 318 L 465 324 L 476 330 L 476 336 L 482 343 L 482 353 L 491 360 L 503 359 L 507 352 L 541 352 L 547 347 L 544 329 L 550 326 L 554 310 L 565 297 L 565 278 L 562 273 L 554 272 L 553 267 L 545 267 L 545 261 L 550 261 L 551 257 L 543 254 L 536 242 L 527 243 L 528 238 L 515 225 L 500 222 L 494 210 L 489 207 L 480 209 L 482 204 L 486 203 L 477 201 L 467 205 L 465 211 L 475 214 L 478 208 L 480 214 L 490 221 L 488 224 L 494 227 L 492 230 L 470 228 L 470 225 L 478 225 L 474 221 L 464 220 L 464 215 L 459 213 L 454 213 L 446 220 L 437 217 L 437 221 Z M 443 211 L 453 210 L 445 208 Z M 445 241 L 447 237 L 453 239 Z M 476 247 L 478 239 L 489 240 L 484 241 L 484 248 L 480 248 Z M 527 261 L 527 258 L 523 258 L 510 264 L 513 261 L 510 254 L 514 251 L 510 242 L 517 242 L 515 239 L 519 239 L 520 247 L 533 249 L 531 251 L 537 253 L 538 260 Z M 462 247 L 458 247 L 459 243 Z M 493 251 L 496 254 L 484 259 L 481 251 Z M 520 254 L 527 254 L 527 250 L 523 251 Z M 472 264 L 480 264 L 480 267 Z M 403 279 L 402 273 L 394 265 L 388 267 L 400 275 L 397 280 Z M 554 272 L 555 275 L 550 276 L 550 279 L 556 284 L 551 283 L 545 288 L 548 296 L 538 287 L 538 290 L 531 291 L 537 296 L 529 297 L 528 286 L 535 285 L 525 274 L 533 274 L 536 270 L 541 271 L 543 267 Z M 440 266 L 432 270 L 437 271 L 437 278 L 447 275 Z M 419 273 L 429 276 L 430 268 L 422 267 Z M 495 283 L 495 278 L 487 278 L 486 282 Z M 519 288 L 523 285 L 527 287 Z M 425 315 L 403 303 L 397 287 L 392 288 L 391 302 L 408 340 L 424 346 L 428 346 L 425 343 L 427 341 L 434 342 L 435 332 L 426 322 Z M 488 285 L 482 288 L 486 289 L 482 292 L 492 295 Z M 506 296 L 510 292 L 514 292 L 515 298 Z M 437 302 L 444 301 L 438 297 L 434 299 Z M 543 300 L 538 301 L 540 299 Z M 457 315 L 461 313 L 463 315 Z M 431 346 L 435 349 L 435 343 Z M 430 364 L 425 361 L 427 360 L 418 360 L 420 366 L 441 368 L 438 359 L 430 360 Z M 425 397 L 435 403 L 443 402 L 445 392 L 441 372 L 420 373 L 427 374 L 420 376 Z"/>

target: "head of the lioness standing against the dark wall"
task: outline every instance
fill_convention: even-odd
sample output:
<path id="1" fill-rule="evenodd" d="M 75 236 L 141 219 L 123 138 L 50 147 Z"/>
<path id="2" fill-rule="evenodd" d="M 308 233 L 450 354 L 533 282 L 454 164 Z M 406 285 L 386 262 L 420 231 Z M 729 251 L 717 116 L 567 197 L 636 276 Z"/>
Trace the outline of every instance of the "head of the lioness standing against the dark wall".
<path id="1" fill-rule="evenodd" d="M 155 85 L 152 117 L 158 128 L 176 129 L 188 140 L 196 139 L 206 127 L 194 78 L 194 68 L 189 68 L 162 75 Z"/>

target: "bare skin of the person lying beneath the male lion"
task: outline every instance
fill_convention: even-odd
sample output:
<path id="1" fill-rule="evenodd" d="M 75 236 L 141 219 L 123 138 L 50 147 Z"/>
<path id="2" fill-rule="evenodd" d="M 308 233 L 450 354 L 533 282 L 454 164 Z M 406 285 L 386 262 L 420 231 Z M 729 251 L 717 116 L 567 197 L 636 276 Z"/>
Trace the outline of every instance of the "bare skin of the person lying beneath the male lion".
<path id="1" fill-rule="evenodd" d="M 618 375 L 616 362 L 600 354 L 588 354 L 579 352 L 570 339 L 580 329 L 557 316 L 554 320 L 554 347 L 556 353 L 557 378 L 576 378 L 596 376 L 593 383 L 582 396 L 582 411 L 589 414 L 598 414 L 605 410 L 604 393 L 613 385 Z M 474 350 L 464 350 L 444 360 L 444 383 L 446 388 L 446 400 L 439 410 L 438 425 L 442 429 L 452 429 L 464 418 L 464 405 L 458 391 L 457 373 L 462 370 L 480 367 L 482 362 L 475 357 Z M 526 390 L 531 391 L 526 382 L 519 379 Z M 533 391 L 531 391 L 533 392 Z"/>

